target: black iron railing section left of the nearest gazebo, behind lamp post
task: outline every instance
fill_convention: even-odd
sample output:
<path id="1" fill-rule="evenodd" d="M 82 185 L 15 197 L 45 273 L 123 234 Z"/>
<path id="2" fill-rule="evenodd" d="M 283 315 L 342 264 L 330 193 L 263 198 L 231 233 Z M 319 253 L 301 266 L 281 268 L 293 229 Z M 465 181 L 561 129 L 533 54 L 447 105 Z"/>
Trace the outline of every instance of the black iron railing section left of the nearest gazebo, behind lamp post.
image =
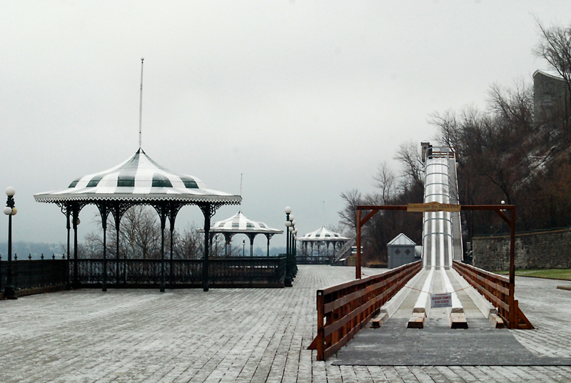
<path id="1" fill-rule="evenodd" d="M 14 289 L 33 289 L 36 287 L 58 286 L 68 282 L 68 260 L 56 259 L 52 254 L 50 258 L 44 259 L 18 259 L 18 255 L 14 254 L 14 259 L 9 262 L 0 257 L 0 292 L 6 287 L 6 277 L 8 270 L 11 268 L 12 284 Z"/>

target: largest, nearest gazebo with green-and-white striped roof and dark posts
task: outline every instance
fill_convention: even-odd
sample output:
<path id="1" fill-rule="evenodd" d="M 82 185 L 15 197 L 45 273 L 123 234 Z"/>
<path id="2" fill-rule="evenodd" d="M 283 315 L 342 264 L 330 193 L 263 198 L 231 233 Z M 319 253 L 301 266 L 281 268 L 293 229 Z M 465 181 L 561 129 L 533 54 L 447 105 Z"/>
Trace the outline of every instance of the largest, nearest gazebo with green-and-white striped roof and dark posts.
<path id="1" fill-rule="evenodd" d="M 123 214 L 134 205 L 149 205 L 161 220 L 161 292 L 165 288 L 164 229 L 169 221 L 171 234 L 171 278 L 173 275 L 173 230 L 176 215 L 181 207 L 196 205 L 204 214 L 204 258 L 202 267 L 203 289 L 208 291 L 208 237 L 211 217 L 223 205 L 239 204 L 241 197 L 208 189 L 200 179 L 186 174 L 177 174 L 157 164 L 139 148 L 121 164 L 96 174 L 82 176 L 66 189 L 35 194 L 37 202 L 56 204 L 67 218 L 67 251 L 70 252 L 70 229 L 74 229 L 74 284 L 78 284 L 77 224 L 79 212 L 88 204 L 96 205 L 101 213 L 103 226 L 103 291 L 106 290 L 106 229 L 111 213 L 117 228 L 116 257 L 119 259 L 119 232 Z M 70 226 L 71 218 L 71 226 Z M 116 267 L 116 282 L 119 283 L 119 263 Z M 171 281 L 172 284 L 172 281 Z"/>

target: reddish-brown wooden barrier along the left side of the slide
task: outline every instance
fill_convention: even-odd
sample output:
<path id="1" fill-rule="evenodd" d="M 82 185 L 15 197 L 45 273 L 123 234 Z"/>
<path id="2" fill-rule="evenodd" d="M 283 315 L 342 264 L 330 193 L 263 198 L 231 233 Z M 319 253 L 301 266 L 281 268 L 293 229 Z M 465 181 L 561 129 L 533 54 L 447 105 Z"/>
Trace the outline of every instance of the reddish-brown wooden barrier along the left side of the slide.
<path id="1" fill-rule="evenodd" d="M 317 336 L 308 349 L 325 360 L 367 324 L 422 269 L 420 261 L 317 291 Z"/>

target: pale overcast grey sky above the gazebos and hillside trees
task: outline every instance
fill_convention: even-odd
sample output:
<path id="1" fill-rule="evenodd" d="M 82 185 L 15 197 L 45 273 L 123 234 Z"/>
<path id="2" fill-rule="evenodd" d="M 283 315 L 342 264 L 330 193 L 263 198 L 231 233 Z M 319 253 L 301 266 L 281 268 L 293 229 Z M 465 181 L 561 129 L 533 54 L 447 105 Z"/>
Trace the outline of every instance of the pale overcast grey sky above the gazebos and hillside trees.
<path id="1" fill-rule="evenodd" d="M 14 240 L 65 242 L 64 215 L 33 194 L 138 149 L 141 57 L 146 154 L 233 194 L 243 173 L 243 213 L 282 229 L 289 205 L 303 235 L 337 224 L 340 193 L 372 191 L 400 144 L 431 139 L 429 114 L 546 69 L 534 16 L 570 24 L 571 1 L 0 1 Z M 185 207 L 177 227 L 192 221 Z"/>

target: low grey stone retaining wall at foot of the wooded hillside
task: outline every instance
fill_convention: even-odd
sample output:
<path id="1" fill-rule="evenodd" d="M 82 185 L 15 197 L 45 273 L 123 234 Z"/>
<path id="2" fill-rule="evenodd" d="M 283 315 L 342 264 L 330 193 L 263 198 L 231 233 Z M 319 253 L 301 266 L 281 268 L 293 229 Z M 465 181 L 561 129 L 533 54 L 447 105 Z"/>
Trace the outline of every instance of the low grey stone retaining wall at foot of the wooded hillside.
<path id="1" fill-rule="evenodd" d="M 487 271 L 510 268 L 510 236 L 473 237 L 473 264 Z M 516 234 L 516 269 L 571 268 L 571 229 Z"/>

